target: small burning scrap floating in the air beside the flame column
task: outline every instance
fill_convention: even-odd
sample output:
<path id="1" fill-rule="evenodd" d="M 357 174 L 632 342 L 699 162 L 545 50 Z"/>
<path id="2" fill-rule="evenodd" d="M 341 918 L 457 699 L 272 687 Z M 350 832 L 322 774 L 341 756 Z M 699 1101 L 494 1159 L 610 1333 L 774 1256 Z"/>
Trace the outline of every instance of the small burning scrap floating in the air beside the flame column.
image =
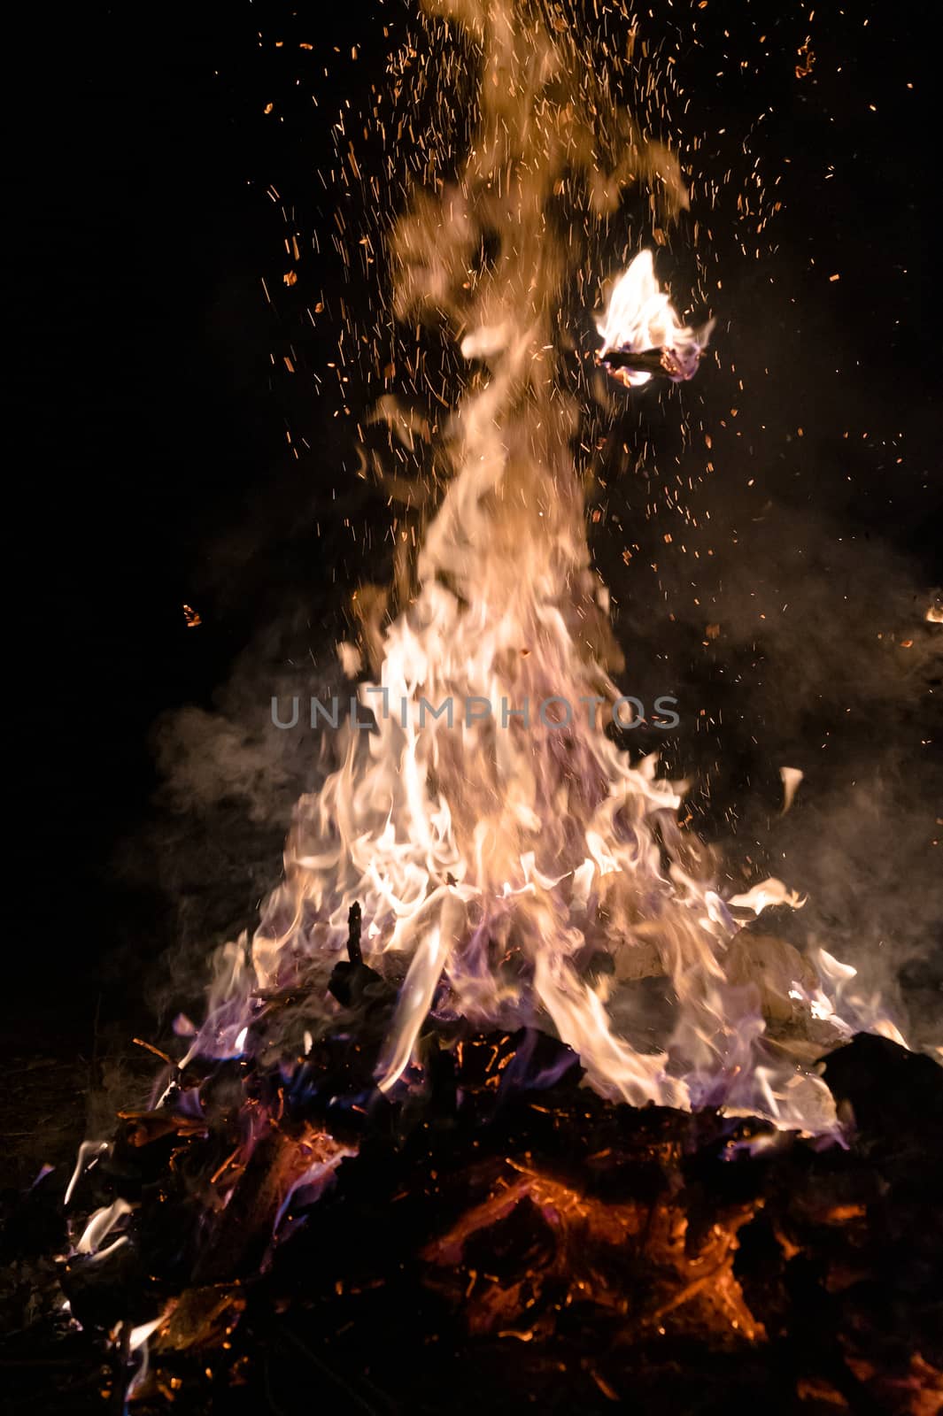
<path id="1" fill-rule="evenodd" d="M 681 324 L 656 279 L 651 252 L 640 251 L 616 282 L 596 329 L 603 340 L 600 364 L 626 388 L 637 388 L 653 374 L 675 384 L 694 378 L 714 320 L 699 330 Z"/>

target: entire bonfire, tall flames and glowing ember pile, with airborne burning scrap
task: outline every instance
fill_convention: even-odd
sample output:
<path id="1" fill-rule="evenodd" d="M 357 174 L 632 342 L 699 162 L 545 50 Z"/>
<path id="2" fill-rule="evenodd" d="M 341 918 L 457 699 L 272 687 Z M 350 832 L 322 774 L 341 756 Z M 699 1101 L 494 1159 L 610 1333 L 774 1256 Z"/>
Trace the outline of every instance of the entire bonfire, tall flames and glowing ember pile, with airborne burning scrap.
<path id="1" fill-rule="evenodd" d="M 539 4 L 428 11 L 469 55 L 476 125 L 452 176 L 418 185 L 392 227 L 391 316 L 442 343 L 460 389 L 435 430 L 392 395 L 364 418 L 421 428 L 435 464 L 416 456 L 425 534 L 404 542 L 392 596 L 360 598 L 360 641 L 341 647 L 375 731 L 338 729 L 337 770 L 297 803 L 283 882 L 252 937 L 221 950 L 205 1020 L 181 1021 L 185 1051 L 153 1104 L 84 1148 L 71 1188 L 72 1301 L 113 1324 L 142 1408 L 200 1372 L 224 1374 L 221 1402 L 251 1388 L 236 1330 L 312 1357 L 310 1334 L 273 1320 L 299 1284 L 337 1342 L 337 1368 L 313 1354 L 331 1409 L 392 1409 L 355 1375 L 351 1327 L 413 1354 L 471 1341 L 466 1371 L 474 1341 L 547 1344 L 528 1392 L 572 1368 L 585 1405 L 588 1386 L 619 1400 L 613 1345 L 671 1332 L 752 1349 L 784 1321 L 787 1289 L 755 1311 L 741 1231 L 756 1272 L 772 1246 L 780 1283 L 777 1225 L 814 1243 L 848 1218 L 813 1202 L 817 1147 L 845 1164 L 827 1080 L 854 1090 L 817 1059 L 884 1034 L 868 1056 L 933 1085 L 854 970 L 743 933 L 800 895 L 766 879 L 725 898 L 678 823 L 684 784 L 654 758 L 631 765 L 602 711 L 423 711 L 626 701 L 588 549 L 581 419 L 590 396 L 620 406 L 607 401 L 685 384 L 712 336 L 661 289 L 646 228 L 627 269 L 590 265 L 613 232 L 624 242 L 629 195 L 663 234 L 690 198 L 581 35 Z M 438 115 L 432 140 L 446 130 Z M 573 289 L 598 297 L 578 350 Z M 375 715 L 377 695 L 401 707 Z M 731 1164 L 753 1154 L 789 1172 L 776 1195 L 762 1167 L 745 1161 L 743 1182 Z M 109 1274 L 122 1301 L 101 1297 Z M 476 1388 L 494 1405 L 498 1368 Z"/>

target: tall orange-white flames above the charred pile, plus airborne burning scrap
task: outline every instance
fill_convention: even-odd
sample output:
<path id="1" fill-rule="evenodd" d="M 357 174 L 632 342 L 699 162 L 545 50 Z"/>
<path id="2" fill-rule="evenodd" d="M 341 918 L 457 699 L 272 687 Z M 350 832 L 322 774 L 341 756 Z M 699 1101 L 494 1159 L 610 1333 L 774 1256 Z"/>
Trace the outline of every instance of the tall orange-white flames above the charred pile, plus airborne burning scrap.
<path id="1" fill-rule="evenodd" d="M 251 1049 L 258 993 L 297 980 L 309 1027 L 330 1027 L 324 983 L 358 901 L 365 961 L 399 988 L 384 1089 L 413 1066 L 430 1015 L 528 1022 L 555 1029 L 606 1096 L 827 1130 L 827 1089 L 769 1042 L 760 990 L 731 969 L 742 923 L 797 899 L 777 881 L 721 898 L 677 824 L 682 787 L 653 759 L 631 766 L 605 732 L 619 690 L 556 347 L 582 248 L 554 204 L 579 187 L 602 225 L 641 181 L 667 222 L 687 205 L 678 164 L 616 113 L 619 152 L 602 169 L 593 123 L 615 110 L 565 25 L 551 34 L 534 8 L 498 0 L 426 8 L 464 24 L 480 55 L 469 156 L 416 194 L 391 242 L 396 316 L 447 321 L 467 361 L 445 432 L 452 479 L 409 602 L 372 640 L 378 681 L 358 694 L 377 731 L 350 728 L 340 769 L 300 800 L 285 882 L 248 960 L 228 946 L 194 1051 Z M 707 338 L 680 324 L 644 252 L 600 333 L 607 348 L 688 362 Z M 673 1010 L 657 1044 L 633 1001 L 644 977 L 664 980 Z M 824 1015 L 828 978 L 790 987 L 787 973 L 783 997 Z"/>

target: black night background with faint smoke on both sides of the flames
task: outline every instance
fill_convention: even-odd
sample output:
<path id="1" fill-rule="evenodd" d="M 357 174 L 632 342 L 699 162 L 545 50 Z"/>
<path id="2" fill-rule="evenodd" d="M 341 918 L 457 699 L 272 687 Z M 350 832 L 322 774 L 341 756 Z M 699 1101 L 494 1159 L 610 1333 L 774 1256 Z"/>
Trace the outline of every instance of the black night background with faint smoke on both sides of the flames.
<path id="1" fill-rule="evenodd" d="M 939 1001 L 943 860 L 930 741 L 943 630 L 923 619 L 943 582 L 926 11 L 908 0 L 844 13 L 825 0 L 811 20 L 797 4 L 745 0 L 654 11 L 646 33 L 665 27 L 691 132 L 724 129 L 716 181 L 732 169 L 715 218 L 719 364 L 680 395 L 694 411 L 699 474 L 705 456 L 714 464 L 690 501 L 711 508 L 707 544 L 724 549 L 709 571 L 691 559 L 705 544 L 701 514 L 684 559 L 677 514 L 660 503 L 646 518 L 660 498 L 629 467 L 596 494 L 593 552 L 630 663 L 643 664 L 634 683 L 681 700 L 668 758 L 709 777 L 709 799 L 701 786 L 692 799 L 708 834 L 726 837 L 731 857 L 769 860 L 777 767 L 803 767 L 783 821 L 791 868 L 775 861 L 773 874 L 806 886 L 818 852 L 808 868 L 840 884 L 825 915 L 859 905 L 875 882 L 891 891 L 888 918 L 916 960 L 926 1014 Z M 251 790 L 207 787 L 194 801 L 198 783 L 183 801 L 166 792 L 154 801 L 154 724 L 170 722 L 164 760 L 180 766 L 176 733 L 184 759 L 219 760 L 211 721 L 178 716 L 185 705 L 218 711 L 236 724 L 234 763 L 245 760 L 246 741 L 265 739 L 273 677 L 309 650 L 326 664 L 345 589 L 385 573 L 344 527 L 387 511 L 353 477 L 353 421 L 336 416 L 338 385 L 326 374 L 341 323 L 330 232 L 343 197 L 316 171 L 333 161 L 338 108 L 382 81 L 404 30 L 405 10 L 364 0 L 310 11 L 269 0 L 91 4 L 13 47 L 23 64 L 7 119 L 18 246 L 7 296 L 23 438 L 7 469 L 17 709 L 7 760 L 18 789 L 7 813 L 6 1001 L 18 1056 L 45 1048 L 54 1028 L 86 1056 L 96 1005 L 99 1027 L 130 1028 L 160 950 L 251 925 L 275 881 L 299 786 L 290 763 L 272 800 L 261 748 Z M 814 67 L 799 79 L 807 37 Z M 780 177 L 782 211 L 758 261 L 738 245 L 733 208 L 753 160 L 741 135 L 765 108 L 750 153 L 767 183 Z M 297 262 L 282 205 L 295 207 Z M 328 310 L 306 326 L 303 309 L 323 290 Z M 667 463 L 673 399 L 663 419 L 639 413 L 656 450 L 664 436 Z M 623 416 L 626 438 L 640 439 L 636 415 Z M 184 602 L 200 627 L 187 629 Z M 776 619 L 786 602 L 793 617 Z M 760 603 L 775 629 L 756 623 Z M 719 637 L 705 640 L 715 622 Z M 235 688 L 219 697 L 227 683 Z M 844 942 L 847 920 L 838 927 Z"/>

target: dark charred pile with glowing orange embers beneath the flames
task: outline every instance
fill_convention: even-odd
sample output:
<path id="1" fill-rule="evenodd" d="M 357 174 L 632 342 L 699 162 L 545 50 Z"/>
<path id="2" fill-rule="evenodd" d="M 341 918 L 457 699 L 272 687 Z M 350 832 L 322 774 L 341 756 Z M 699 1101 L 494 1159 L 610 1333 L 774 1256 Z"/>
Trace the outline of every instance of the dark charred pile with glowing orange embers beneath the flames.
<path id="1" fill-rule="evenodd" d="M 61 1281 L 119 1402 L 130 1331 L 163 1314 L 140 1416 L 940 1409 L 927 1058 L 859 1037 L 828 1059 L 845 1148 L 605 1102 L 534 1032 L 438 1052 L 422 1092 L 368 1104 L 338 1100 L 364 1061 L 331 1048 L 287 1083 L 234 1063 L 205 1127 L 173 1106 L 126 1119 L 89 1172 L 95 1201 L 135 1206 L 129 1239 Z M 214 1212 L 236 1083 L 268 1120 Z M 319 1157 L 314 1198 L 297 1178 Z M 88 1409 L 59 1359 L 57 1409 Z"/>

